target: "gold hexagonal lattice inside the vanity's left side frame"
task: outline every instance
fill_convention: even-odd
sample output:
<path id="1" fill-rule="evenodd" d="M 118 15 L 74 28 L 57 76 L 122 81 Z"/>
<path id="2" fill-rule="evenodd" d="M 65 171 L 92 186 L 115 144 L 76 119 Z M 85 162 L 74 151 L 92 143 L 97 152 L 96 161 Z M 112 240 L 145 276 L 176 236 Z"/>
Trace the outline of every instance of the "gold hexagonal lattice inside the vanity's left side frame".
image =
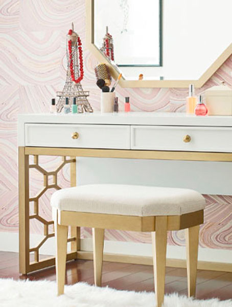
<path id="1" fill-rule="evenodd" d="M 29 202 L 34 202 L 34 213 L 29 216 L 30 220 L 35 218 L 37 221 L 43 224 L 43 235 L 44 238 L 41 240 L 41 242 L 34 248 L 30 248 L 29 252 L 34 252 L 34 258 L 35 261 L 39 261 L 39 249 L 40 247 L 48 240 L 48 238 L 51 238 L 55 235 L 54 230 L 52 233 L 49 233 L 49 225 L 53 225 L 53 221 L 47 221 L 43 217 L 39 215 L 39 198 L 48 190 L 51 188 L 55 188 L 56 190 L 61 189 L 61 187 L 57 184 L 57 175 L 58 172 L 63 168 L 63 166 L 67 163 L 75 162 L 75 159 L 66 159 L 66 157 L 62 157 L 62 163 L 55 169 L 54 171 L 47 171 L 44 168 L 42 168 L 39 165 L 39 156 L 34 156 L 34 163 L 29 165 L 29 168 L 34 168 L 40 173 L 43 174 L 43 187 L 42 189 L 32 198 L 29 199 Z M 49 177 L 53 178 L 52 184 L 51 180 L 49 180 Z M 71 237 L 68 238 L 68 242 L 74 241 L 76 238 Z"/>

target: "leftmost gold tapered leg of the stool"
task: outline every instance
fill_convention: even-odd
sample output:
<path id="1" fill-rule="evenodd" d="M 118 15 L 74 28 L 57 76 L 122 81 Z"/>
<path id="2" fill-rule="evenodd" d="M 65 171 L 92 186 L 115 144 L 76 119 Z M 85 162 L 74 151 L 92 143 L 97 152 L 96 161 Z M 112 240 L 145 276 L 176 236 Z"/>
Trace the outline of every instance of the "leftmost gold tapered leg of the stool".
<path id="1" fill-rule="evenodd" d="M 64 293 L 68 226 L 55 223 L 57 295 Z"/>

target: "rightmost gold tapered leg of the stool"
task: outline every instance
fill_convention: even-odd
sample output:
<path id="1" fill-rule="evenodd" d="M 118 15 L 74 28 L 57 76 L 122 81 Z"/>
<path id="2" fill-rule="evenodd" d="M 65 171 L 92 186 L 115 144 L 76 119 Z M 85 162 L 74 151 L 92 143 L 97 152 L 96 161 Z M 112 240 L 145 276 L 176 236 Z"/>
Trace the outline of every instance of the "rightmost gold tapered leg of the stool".
<path id="1" fill-rule="evenodd" d="M 195 296 L 196 294 L 199 228 L 200 226 L 197 225 L 186 229 L 187 276 L 189 297 Z"/>

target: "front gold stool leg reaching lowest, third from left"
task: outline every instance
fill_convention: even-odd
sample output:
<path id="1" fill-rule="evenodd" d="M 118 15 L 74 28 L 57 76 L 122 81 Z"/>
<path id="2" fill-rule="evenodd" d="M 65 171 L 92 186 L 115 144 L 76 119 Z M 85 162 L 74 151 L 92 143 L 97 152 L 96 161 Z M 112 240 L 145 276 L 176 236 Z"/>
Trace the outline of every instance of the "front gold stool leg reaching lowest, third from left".
<path id="1" fill-rule="evenodd" d="M 156 307 L 161 307 L 165 295 L 165 269 L 167 250 L 167 216 L 155 217 L 155 232 L 152 232 L 152 249 L 155 279 Z"/>

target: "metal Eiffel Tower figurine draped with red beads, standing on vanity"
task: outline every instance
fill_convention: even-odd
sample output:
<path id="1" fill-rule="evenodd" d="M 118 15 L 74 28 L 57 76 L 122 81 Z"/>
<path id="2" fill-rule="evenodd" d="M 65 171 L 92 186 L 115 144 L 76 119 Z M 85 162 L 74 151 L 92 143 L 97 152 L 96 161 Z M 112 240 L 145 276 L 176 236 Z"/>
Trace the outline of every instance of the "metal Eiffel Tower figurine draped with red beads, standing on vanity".
<path id="1" fill-rule="evenodd" d="M 66 82 L 63 91 L 57 92 L 57 96 L 59 97 L 56 106 L 57 112 L 60 113 L 62 111 L 66 97 L 68 97 L 69 100 L 76 97 L 78 113 L 83 113 L 83 111 L 93 112 L 87 99 L 89 91 L 84 91 L 80 83 L 84 76 L 81 39 L 78 34 L 74 32 L 73 24 L 72 30 L 69 30 L 67 34 L 66 56 Z"/>

